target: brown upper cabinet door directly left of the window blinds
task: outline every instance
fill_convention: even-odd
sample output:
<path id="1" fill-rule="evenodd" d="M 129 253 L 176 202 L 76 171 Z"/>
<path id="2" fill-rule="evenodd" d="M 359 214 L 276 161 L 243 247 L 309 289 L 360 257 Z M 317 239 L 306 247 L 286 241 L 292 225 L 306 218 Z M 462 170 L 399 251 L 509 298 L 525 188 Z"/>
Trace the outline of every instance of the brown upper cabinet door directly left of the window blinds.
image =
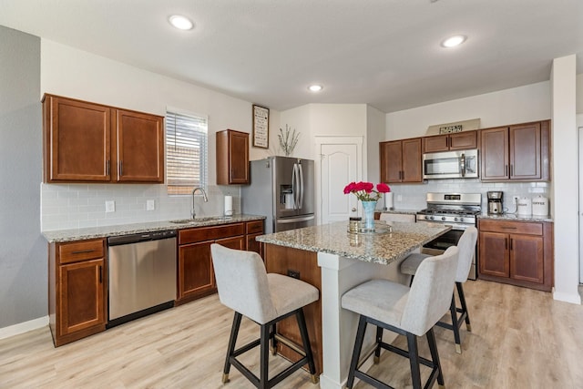
<path id="1" fill-rule="evenodd" d="M 117 110 L 117 181 L 164 182 L 164 120 Z"/>

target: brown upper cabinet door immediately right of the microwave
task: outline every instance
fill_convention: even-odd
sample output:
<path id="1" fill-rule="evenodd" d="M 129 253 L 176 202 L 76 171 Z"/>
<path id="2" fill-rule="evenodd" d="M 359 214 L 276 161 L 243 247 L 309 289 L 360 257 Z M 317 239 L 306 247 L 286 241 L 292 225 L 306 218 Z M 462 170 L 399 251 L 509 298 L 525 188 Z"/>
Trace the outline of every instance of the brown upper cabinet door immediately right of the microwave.
<path id="1" fill-rule="evenodd" d="M 482 180 L 508 179 L 508 128 L 480 131 Z"/>

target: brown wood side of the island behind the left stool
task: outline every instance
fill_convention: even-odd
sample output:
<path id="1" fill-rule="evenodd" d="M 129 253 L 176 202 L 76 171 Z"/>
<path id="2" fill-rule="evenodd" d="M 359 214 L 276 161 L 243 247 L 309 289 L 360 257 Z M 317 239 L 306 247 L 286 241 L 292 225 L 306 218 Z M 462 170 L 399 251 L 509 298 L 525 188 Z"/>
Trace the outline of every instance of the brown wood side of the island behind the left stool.
<path id="1" fill-rule="evenodd" d="M 300 280 L 308 282 L 322 290 L 322 271 L 318 267 L 318 253 L 303 251 L 272 244 L 264 245 L 264 260 L 267 272 L 275 272 L 287 275 L 289 270 L 297 271 Z M 303 309 L 306 317 L 308 334 L 312 345 L 316 373 L 322 373 L 322 300 L 312 302 Z M 302 336 L 295 317 L 290 317 L 278 323 L 277 332 L 296 344 L 302 344 Z M 286 345 L 278 343 L 278 353 L 286 358 L 297 361 L 300 356 L 290 350 Z"/>

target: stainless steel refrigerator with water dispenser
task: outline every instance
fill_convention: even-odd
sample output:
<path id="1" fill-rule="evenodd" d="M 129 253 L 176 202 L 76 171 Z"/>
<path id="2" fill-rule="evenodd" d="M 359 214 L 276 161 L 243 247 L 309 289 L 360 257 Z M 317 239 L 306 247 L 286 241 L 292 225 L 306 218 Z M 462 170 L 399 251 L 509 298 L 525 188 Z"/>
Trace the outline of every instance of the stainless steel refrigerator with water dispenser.
<path id="1" fill-rule="evenodd" d="M 313 226 L 314 164 L 310 159 L 269 157 L 251 161 L 251 185 L 241 188 L 243 213 L 265 215 L 265 232 Z"/>

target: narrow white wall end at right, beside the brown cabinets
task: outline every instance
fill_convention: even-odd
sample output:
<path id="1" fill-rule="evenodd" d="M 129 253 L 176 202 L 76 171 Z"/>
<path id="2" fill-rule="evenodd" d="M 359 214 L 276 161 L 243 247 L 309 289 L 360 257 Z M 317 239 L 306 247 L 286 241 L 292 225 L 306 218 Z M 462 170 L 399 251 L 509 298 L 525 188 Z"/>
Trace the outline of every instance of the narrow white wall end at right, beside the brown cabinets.
<path id="1" fill-rule="evenodd" d="M 555 292 L 557 300 L 580 303 L 578 295 L 578 131 L 576 56 L 553 60 L 552 175 L 555 200 Z"/>

